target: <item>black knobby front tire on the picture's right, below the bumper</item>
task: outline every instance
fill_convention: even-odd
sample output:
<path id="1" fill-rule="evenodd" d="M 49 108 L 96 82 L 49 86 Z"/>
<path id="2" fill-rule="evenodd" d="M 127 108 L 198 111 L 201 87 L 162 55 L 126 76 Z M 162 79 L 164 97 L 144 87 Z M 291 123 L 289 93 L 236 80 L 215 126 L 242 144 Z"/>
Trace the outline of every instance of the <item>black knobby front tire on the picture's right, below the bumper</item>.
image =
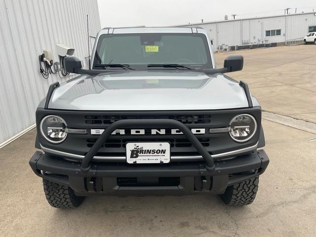
<path id="1" fill-rule="evenodd" d="M 258 191 L 259 177 L 243 181 L 239 184 L 227 187 L 220 197 L 225 204 L 242 206 L 253 202 Z"/>

